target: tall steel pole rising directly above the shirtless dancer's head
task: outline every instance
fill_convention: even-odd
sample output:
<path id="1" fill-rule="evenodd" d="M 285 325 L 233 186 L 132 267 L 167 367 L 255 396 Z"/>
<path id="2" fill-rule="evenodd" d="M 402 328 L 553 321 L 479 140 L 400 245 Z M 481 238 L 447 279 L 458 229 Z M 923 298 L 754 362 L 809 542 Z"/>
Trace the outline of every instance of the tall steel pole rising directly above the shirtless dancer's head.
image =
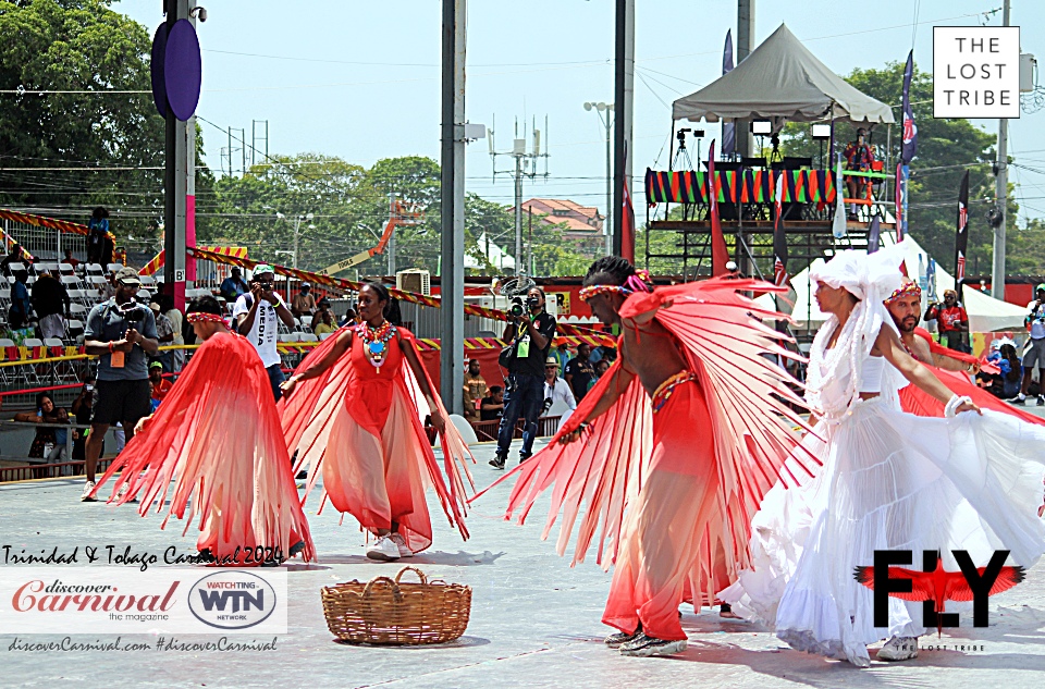
<path id="1" fill-rule="evenodd" d="M 624 181 L 631 179 L 631 120 L 635 100 L 635 0 L 616 0 L 616 64 L 614 106 L 616 131 L 614 136 L 613 175 L 613 254 L 622 254 L 624 236 Z M 611 216 L 610 212 L 606 213 Z"/>

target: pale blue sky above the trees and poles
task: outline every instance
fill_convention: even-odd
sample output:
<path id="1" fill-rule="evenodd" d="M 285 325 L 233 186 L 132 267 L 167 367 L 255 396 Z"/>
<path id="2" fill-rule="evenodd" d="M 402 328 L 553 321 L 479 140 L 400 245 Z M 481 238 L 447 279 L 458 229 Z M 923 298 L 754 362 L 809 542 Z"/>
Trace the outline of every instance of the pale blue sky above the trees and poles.
<path id="1" fill-rule="evenodd" d="M 906 59 L 912 37 L 919 67 L 931 70 L 934 25 L 978 25 L 986 22 L 980 13 L 1001 5 L 1001 0 L 755 1 L 757 41 L 786 22 L 839 74 Z M 1040 14 L 1038 21 L 1032 14 L 1037 3 L 1015 0 L 1012 24 L 1022 24 L 1023 51 L 1045 62 L 1045 25 Z M 243 127 L 249 137 L 251 120 L 269 121 L 270 152 L 316 151 L 362 165 L 407 155 L 439 159 L 438 0 L 202 4 L 209 17 L 198 27 L 204 48 L 198 112 L 222 130 L 202 123 L 211 168 L 220 168 L 223 130 Z M 526 197 L 568 197 L 600 210 L 605 206 L 604 130 L 582 106 L 613 99 L 613 4 L 469 2 L 468 119 L 489 126 L 495 116 L 497 147 L 504 150 L 516 116 L 549 118 L 551 176 L 527 182 Z M 718 76 L 726 30 L 736 33 L 736 2 L 637 4 L 634 167 L 640 174 L 648 165 L 666 168 L 672 101 Z M 113 7 L 150 32 L 162 19 L 161 0 L 123 0 Z M 989 23 L 1000 24 L 1000 12 Z M 997 132 L 996 121 L 981 124 Z M 1045 170 L 1043 125 L 1045 112 L 1010 122 L 1009 151 L 1017 162 Z M 705 130 L 704 151 L 718 126 Z M 469 145 L 466 175 L 469 192 L 512 202 L 512 181 L 491 180 L 484 142 Z M 1045 174 L 1013 168 L 1010 181 L 1020 184 L 1021 219 L 1045 217 Z"/>

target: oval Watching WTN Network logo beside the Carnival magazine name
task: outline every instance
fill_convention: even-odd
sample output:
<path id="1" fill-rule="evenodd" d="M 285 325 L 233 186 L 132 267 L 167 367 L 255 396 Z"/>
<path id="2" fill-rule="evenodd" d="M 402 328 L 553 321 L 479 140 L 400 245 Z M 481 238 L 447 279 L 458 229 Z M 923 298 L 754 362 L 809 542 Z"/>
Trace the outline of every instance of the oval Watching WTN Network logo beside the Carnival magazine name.
<path id="1" fill-rule="evenodd" d="M 243 570 L 207 575 L 188 594 L 188 608 L 196 619 L 219 629 L 254 627 L 269 618 L 276 603 L 272 585 Z"/>

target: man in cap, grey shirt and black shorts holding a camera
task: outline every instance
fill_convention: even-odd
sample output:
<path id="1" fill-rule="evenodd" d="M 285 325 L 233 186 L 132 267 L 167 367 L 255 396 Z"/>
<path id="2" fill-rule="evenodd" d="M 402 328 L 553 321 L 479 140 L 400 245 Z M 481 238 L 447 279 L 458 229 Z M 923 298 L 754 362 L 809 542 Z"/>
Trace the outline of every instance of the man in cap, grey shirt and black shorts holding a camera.
<path id="1" fill-rule="evenodd" d="M 87 439 L 87 484 L 82 502 L 95 502 L 95 469 L 109 426 L 123 423 L 127 442 L 134 426 L 150 411 L 149 356 L 156 356 L 156 319 L 152 311 L 135 302 L 138 271 L 121 268 L 114 279 L 115 295 L 90 309 L 84 329 L 84 348 L 98 355 L 98 386 Z"/>

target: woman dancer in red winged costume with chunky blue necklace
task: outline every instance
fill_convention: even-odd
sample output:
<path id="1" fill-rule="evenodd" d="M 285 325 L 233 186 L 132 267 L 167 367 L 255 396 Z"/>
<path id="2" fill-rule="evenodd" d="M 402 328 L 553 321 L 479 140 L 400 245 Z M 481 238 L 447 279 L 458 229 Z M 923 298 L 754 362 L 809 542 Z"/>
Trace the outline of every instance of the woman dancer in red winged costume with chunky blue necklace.
<path id="1" fill-rule="evenodd" d="M 364 322 L 329 337 L 283 383 L 288 396 L 283 430 L 287 446 L 298 453 L 295 471 L 309 468 L 306 495 L 322 472 L 323 502 L 329 499 L 378 537 L 367 556 L 381 561 L 410 557 L 431 545 L 428 483 L 435 487 L 451 525 L 467 539 L 457 462 L 471 482 L 465 465 L 471 457 L 468 446 L 446 421 L 414 335 L 384 319 L 388 304 L 384 285 L 364 285 Z M 446 481 L 421 425 L 428 414 L 442 440 Z"/>

